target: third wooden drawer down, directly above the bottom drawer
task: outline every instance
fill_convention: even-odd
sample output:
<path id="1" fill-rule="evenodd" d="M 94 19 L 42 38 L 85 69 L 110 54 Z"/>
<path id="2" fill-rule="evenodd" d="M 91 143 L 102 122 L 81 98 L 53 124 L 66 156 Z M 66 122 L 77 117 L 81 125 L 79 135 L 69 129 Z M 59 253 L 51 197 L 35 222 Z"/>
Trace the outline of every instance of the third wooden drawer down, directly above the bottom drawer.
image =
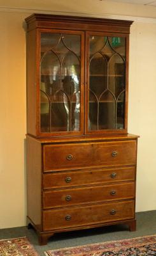
<path id="1" fill-rule="evenodd" d="M 43 208 L 134 198 L 134 182 L 43 192 Z"/>

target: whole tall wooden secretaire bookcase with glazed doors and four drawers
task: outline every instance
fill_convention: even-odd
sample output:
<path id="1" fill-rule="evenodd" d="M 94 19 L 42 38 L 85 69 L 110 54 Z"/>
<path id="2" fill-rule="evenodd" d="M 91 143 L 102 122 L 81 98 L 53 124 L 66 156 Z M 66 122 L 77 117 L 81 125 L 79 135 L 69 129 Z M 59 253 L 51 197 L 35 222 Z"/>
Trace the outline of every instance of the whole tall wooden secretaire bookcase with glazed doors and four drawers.
<path id="1" fill-rule="evenodd" d="M 135 230 L 132 22 L 43 14 L 26 22 L 27 223 L 40 244 L 67 230 Z"/>

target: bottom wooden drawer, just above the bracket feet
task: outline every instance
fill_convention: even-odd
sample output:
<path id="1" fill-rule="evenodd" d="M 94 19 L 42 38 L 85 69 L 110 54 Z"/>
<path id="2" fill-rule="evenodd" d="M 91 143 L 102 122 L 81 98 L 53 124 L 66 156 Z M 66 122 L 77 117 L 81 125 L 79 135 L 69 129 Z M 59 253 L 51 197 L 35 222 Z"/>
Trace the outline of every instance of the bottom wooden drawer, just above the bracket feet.
<path id="1" fill-rule="evenodd" d="M 43 230 L 95 225 L 134 218 L 134 200 L 43 211 Z"/>

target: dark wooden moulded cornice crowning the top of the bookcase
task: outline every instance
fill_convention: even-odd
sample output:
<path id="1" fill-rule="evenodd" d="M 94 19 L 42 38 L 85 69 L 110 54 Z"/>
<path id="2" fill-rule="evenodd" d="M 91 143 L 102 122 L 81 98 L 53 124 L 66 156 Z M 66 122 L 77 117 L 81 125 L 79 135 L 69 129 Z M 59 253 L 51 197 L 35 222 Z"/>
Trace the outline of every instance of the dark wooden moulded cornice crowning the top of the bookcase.
<path id="1" fill-rule="evenodd" d="M 99 19 L 40 13 L 32 14 L 25 21 L 27 22 L 28 31 L 35 28 L 63 28 L 77 30 L 97 29 L 98 31 L 110 31 L 113 33 L 129 33 L 130 26 L 133 22 L 132 20 Z"/>

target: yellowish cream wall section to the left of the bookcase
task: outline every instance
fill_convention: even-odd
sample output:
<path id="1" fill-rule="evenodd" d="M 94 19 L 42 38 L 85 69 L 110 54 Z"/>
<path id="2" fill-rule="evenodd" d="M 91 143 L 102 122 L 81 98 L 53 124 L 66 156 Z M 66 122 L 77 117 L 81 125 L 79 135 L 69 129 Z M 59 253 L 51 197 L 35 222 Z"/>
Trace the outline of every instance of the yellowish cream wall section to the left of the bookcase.
<path id="1" fill-rule="evenodd" d="M 0 13 L 0 228 L 25 225 L 25 31 L 22 13 Z"/>

